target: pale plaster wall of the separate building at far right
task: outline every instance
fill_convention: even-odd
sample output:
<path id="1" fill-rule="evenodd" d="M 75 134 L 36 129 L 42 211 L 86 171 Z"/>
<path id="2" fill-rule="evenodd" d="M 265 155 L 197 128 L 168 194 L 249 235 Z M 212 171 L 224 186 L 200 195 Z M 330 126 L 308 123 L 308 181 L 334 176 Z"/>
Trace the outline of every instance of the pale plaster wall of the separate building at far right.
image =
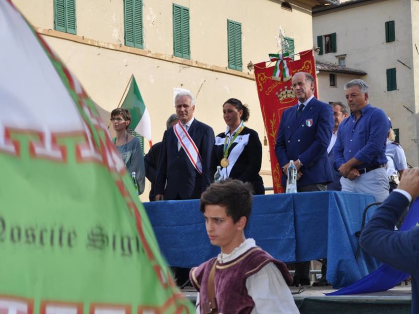
<path id="1" fill-rule="evenodd" d="M 370 102 L 373 106 L 382 108 L 391 118 L 393 127 L 399 128 L 401 144 L 408 163 L 413 166 L 418 166 L 419 163 L 416 143 L 418 123 L 415 114 L 403 106 L 414 113 L 417 112 L 418 105 L 415 105 L 414 100 L 418 85 L 415 86 L 414 83 L 411 15 L 411 5 L 416 8 L 416 2 L 416 0 L 367 1 L 357 6 L 315 13 L 313 17 L 315 42 L 318 35 L 337 33 L 337 52 L 317 56 L 317 60 L 337 64 L 336 56 L 346 54 L 346 65 L 349 68 L 368 73 L 362 79 L 370 85 Z M 395 21 L 396 40 L 387 43 L 384 23 L 390 20 Z M 416 27 L 415 33 L 417 30 Z M 417 56 L 415 59 L 417 60 Z M 386 69 L 390 68 L 396 68 L 397 90 L 395 91 L 386 90 Z"/>

